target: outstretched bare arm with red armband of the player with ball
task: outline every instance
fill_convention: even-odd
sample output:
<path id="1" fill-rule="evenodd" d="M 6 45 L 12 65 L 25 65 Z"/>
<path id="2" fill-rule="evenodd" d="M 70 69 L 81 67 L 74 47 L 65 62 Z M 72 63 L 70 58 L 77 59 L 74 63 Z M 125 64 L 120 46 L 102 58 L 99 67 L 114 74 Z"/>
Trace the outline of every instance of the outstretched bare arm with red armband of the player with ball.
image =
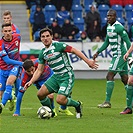
<path id="1" fill-rule="evenodd" d="M 79 51 L 78 49 L 76 48 L 73 48 L 71 46 L 67 46 L 66 49 L 69 51 L 67 52 L 70 52 L 70 53 L 74 53 L 75 55 L 77 55 L 79 58 L 81 58 L 82 60 L 84 60 L 90 68 L 92 69 L 97 69 L 98 68 L 98 64 L 96 64 L 96 62 L 94 60 L 90 60 L 88 59 L 81 51 Z"/>

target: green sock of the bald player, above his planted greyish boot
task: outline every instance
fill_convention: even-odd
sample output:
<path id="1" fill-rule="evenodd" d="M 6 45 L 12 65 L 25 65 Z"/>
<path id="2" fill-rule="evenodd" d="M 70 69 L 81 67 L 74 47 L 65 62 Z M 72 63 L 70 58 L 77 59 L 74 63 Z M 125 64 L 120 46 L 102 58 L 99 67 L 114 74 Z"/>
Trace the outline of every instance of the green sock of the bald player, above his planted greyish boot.
<path id="1" fill-rule="evenodd" d="M 106 102 L 110 102 L 111 95 L 114 89 L 114 81 L 107 81 L 106 83 Z"/>

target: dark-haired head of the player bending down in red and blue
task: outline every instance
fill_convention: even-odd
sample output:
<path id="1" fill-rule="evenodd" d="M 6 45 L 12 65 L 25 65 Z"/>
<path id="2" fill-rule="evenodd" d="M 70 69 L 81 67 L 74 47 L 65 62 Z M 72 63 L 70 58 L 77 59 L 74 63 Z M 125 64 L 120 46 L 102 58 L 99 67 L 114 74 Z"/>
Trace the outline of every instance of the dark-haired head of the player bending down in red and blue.
<path id="1" fill-rule="evenodd" d="M 24 61 L 23 63 L 23 68 L 25 70 L 25 72 L 29 75 L 32 76 L 35 72 L 35 66 L 32 60 L 27 59 Z"/>

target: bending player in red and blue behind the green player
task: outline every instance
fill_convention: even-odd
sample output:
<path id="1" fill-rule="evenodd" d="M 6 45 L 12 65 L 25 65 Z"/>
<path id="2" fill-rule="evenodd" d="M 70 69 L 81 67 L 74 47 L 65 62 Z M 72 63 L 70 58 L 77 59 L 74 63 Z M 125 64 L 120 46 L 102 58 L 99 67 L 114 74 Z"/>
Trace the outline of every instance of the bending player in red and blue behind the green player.
<path id="1" fill-rule="evenodd" d="M 38 66 L 38 59 L 34 59 L 34 60 L 27 59 L 23 63 L 24 69 L 21 76 L 21 85 L 19 87 L 19 92 L 17 95 L 16 111 L 14 112 L 13 116 L 20 116 L 20 106 L 22 102 L 22 97 L 25 93 L 24 85 L 32 78 L 35 70 L 37 69 L 37 66 Z M 48 65 L 45 65 L 42 74 L 40 75 L 38 80 L 34 83 L 36 88 L 39 90 L 41 86 L 46 82 L 46 80 L 48 80 L 52 75 L 53 75 L 52 69 Z M 51 100 L 51 106 L 55 112 L 55 116 L 57 116 L 55 106 L 54 106 L 54 95 L 50 94 L 49 98 Z M 66 106 L 60 106 L 59 111 L 62 113 L 66 113 L 67 115 L 73 115 L 68 110 L 68 108 L 66 108 Z"/>

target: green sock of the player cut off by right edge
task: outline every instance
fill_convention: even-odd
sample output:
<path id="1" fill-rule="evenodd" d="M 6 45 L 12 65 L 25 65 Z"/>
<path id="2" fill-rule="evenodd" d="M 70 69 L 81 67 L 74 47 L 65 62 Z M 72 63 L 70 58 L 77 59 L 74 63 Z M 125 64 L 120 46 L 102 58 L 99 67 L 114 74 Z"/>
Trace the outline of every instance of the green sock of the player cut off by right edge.
<path id="1" fill-rule="evenodd" d="M 132 97 L 133 97 L 133 86 L 128 85 L 126 101 L 127 101 L 127 107 L 130 109 L 132 109 Z"/>

